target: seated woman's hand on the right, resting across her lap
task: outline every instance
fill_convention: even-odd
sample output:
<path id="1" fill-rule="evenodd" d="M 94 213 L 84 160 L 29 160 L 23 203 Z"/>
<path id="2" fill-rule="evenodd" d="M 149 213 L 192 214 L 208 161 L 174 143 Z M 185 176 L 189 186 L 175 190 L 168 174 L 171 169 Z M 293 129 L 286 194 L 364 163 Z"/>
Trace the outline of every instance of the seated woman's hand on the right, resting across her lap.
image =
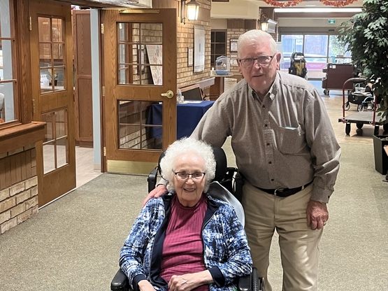
<path id="1" fill-rule="evenodd" d="M 168 282 L 168 290 L 170 291 L 190 291 L 198 286 L 213 282 L 213 277 L 210 271 L 201 271 L 194 274 L 185 274 L 180 276 L 172 276 Z"/>

